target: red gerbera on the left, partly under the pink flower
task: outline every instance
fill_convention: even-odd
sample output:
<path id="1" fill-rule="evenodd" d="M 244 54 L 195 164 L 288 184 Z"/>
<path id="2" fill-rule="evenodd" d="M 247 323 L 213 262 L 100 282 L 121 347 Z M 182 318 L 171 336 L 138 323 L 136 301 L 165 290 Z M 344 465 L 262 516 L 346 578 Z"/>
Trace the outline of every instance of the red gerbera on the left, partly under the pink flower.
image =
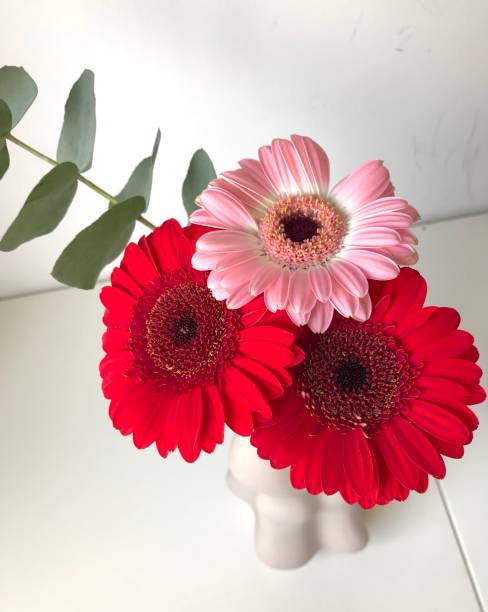
<path id="1" fill-rule="evenodd" d="M 167 221 L 128 245 L 101 292 L 100 373 L 114 427 L 138 448 L 156 442 L 166 457 L 178 447 L 187 461 L 222 442 L 224 422 L 249 435 L 256 414 L 271 416 L 267 400 L 303 357 L 290 323 L 262 300 L 228 310 L 212 296 L 208 274 L 191 267 L 201 234 Z"/>

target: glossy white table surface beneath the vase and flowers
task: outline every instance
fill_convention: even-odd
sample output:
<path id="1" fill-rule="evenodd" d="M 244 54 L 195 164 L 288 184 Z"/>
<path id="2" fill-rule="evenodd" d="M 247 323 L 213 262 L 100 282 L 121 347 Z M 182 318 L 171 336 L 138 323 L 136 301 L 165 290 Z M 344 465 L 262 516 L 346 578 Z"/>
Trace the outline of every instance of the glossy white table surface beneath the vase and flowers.
<path id="1" fill-rule="evenodd" d="M 462 311 L 485 367 L 487 230 L 479 216 L 418 231 L 430 301 Z M 226 488 L 228 444 L 187 465 L 112 428 L 101 314 L 97 291 L 0 302 L 2 612 L 478 612 L 488 601 L 483 407 L 465 459 L 448 461 L 449 513 L 432 485 L 369 511 L 364 551 L 271 570 L 255 558 L 251 511 Z"/>

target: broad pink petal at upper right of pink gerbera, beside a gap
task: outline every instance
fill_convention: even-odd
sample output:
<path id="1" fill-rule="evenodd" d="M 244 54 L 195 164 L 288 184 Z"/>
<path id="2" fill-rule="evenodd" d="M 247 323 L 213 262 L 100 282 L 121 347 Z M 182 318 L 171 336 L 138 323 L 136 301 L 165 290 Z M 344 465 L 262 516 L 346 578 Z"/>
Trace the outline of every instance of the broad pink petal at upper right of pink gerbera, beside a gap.
<path id="1" fill-rule="evenodd" d="M 342 179 L 331 192 L 331 197 L 349 210 L 355 210 L 366 202 L 392 193 L 390 173 L 383 162 L 367 161 Z"/>

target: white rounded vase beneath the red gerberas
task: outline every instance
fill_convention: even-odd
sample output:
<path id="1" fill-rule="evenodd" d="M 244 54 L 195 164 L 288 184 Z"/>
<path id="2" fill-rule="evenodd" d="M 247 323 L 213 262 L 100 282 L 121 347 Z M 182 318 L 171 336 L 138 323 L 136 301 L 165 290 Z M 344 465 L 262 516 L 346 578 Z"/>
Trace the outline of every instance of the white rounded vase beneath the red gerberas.
<path id="1" fill-rule="evenodd" d="M 294 489 L 289 470 L 260 459 L 249 438 L 232 441 L 227 483 L 254 509 L 256 553 L 266 565 L 296 568 L 321 549 L 349 553 L 367 544 L 363 510 L 339 495 Z"/>

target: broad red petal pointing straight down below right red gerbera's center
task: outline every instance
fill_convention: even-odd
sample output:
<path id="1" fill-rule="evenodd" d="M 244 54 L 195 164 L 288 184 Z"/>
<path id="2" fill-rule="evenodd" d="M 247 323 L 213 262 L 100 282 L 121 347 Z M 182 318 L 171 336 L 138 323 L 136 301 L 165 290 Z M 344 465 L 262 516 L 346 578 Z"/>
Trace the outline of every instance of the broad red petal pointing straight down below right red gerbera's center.
<path id="1" fill-rule="evenodd" d="M 369 444 L 360 429 L 353 429 L 343 439 L 344 474 L 359 496 L 373 485 L 373 461 Z"/>

